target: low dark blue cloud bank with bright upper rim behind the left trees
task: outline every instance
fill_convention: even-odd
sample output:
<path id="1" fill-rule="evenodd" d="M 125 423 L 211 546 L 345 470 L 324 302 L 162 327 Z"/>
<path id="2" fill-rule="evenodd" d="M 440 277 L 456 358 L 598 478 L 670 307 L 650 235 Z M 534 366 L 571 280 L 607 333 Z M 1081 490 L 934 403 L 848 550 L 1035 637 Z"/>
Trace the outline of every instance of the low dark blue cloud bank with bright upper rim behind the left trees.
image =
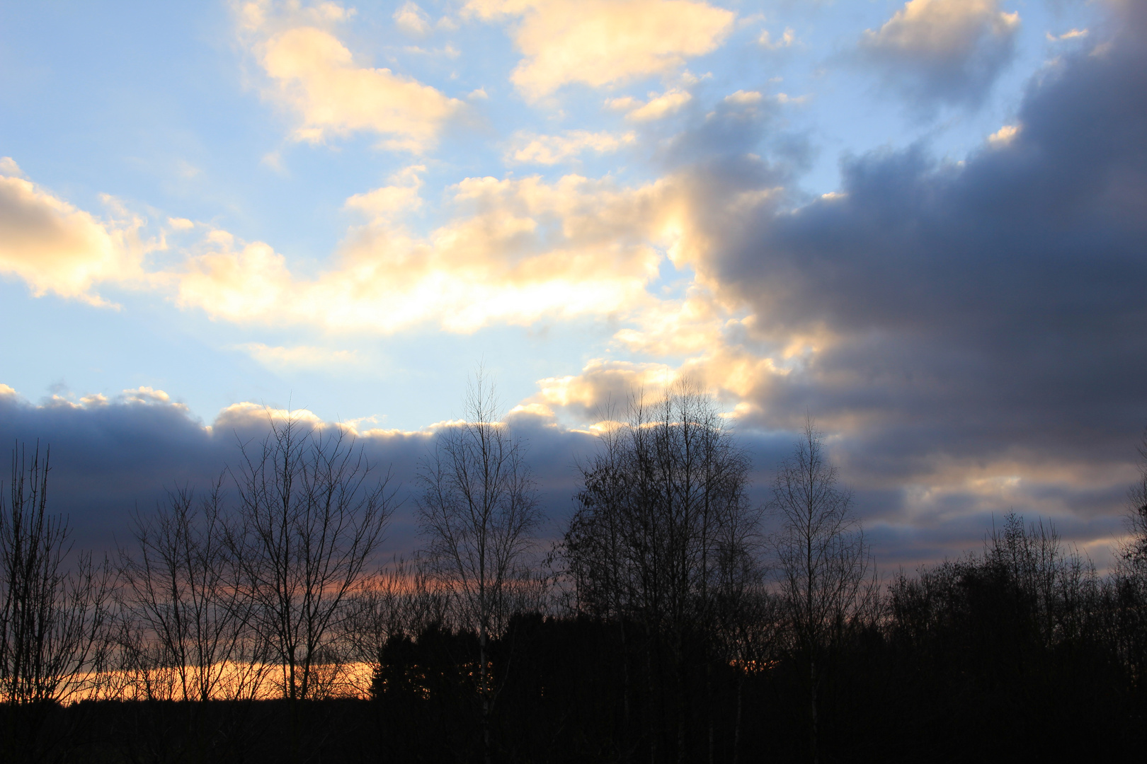
<path id="1" fill-rule="evenodd" d="M 373 417 L 330 423 L 306 409 L 289 411 L 251 402 L 226 407 L 205 425 L 163 391 L 147 387 L 111 399 L 88 395 L 72 402 L 55 397 L 33 404 L 0 384 L 0 441 L 6 448 L 39 443 L 41 454 L 50 447 L 47 509 L 69 518 L 77 550 L 115 553 L 117 545 L 131 543 L 131 513 L 148 513 L 175 487 L 204 489 L 221 476 L 225 502 L 234 504 L 234 475 L 227 467 L 237 472 L 241 446 L 257 447 L 272 422 L 281 424 L 288 417 L 305 427 L 343 431 L 361 447 L 374 475 L 390 472 L 399 503 L 377 561 L 418 549 L 414 478 L 436 428 L 367 428 L 364 424 Z M 537 411 L 517 411 L 507 422 L 529 443 L 543 505 L 556 527 L 575 489 L 570 465 L 594 447 L 593 438 L 560 430 Z"/>

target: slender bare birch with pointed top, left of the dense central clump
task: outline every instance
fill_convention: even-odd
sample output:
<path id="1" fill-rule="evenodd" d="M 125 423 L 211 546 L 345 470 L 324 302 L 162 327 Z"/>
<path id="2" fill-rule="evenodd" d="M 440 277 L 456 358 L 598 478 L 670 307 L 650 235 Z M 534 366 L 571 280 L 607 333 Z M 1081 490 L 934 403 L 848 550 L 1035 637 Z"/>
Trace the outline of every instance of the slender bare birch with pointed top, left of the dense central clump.
<path id="1" fill-rule="evenodd" d="M 525 444 L 500 422 L 493 385 L 479 369 L 469 384 L 466 420 L 444 427 L 423 459 L 419 518 L 427 552 L 457 596 L 461 624 L 478 635 L 482 734 L 490 761 L 490 712 L 497 695 L 489 643 L 505 627 L 540 512 Z"/>

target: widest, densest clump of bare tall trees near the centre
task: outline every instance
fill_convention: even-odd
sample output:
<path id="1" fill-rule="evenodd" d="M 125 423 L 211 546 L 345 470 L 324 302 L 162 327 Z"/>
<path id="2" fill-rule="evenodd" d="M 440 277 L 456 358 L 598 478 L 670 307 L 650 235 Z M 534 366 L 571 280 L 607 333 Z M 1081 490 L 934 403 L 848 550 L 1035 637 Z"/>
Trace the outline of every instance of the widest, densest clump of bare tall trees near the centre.
<path id="1" fill-rule="evenodd" d="M 673 727 L 685 756 L 685 645 L 711 636 L 717 602 L 749 553 L 758 513 L 746 499 L 748 458 L 695 385 L 678 383 L 651 402 L 634 395 L 627 419 L 601 436 L 582 467 L 563 554 L 579 609 L 616 620 L 623 647 L 626 621 L 640 624 L 649 695 L 677 700 Z M 654 655 L 662 649 L 665 655 Z M 658 688 L 653 682 L 662 665 L 670 686 Z M 656 758 L 661 733 L 653 715 L 649 723 Z"/>

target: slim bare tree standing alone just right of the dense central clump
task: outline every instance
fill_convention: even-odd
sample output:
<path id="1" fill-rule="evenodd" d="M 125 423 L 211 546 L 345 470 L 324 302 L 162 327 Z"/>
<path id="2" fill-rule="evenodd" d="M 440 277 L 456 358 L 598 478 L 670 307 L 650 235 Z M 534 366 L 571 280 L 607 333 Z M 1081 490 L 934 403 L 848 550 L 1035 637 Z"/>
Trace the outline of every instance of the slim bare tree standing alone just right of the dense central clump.
<path id="1" fill-rule="evenodd" d="M 781 521 L 773 539 L 780 589 L 798 655 L 807 663 L 810 748 L 818 756 L 817 693 L 828 649 L 863 611 L 868 546 L 851 513 L 851 495 L 837 486 L 836 467 L 811 419 L 777 472 L 772 511 Z"/>

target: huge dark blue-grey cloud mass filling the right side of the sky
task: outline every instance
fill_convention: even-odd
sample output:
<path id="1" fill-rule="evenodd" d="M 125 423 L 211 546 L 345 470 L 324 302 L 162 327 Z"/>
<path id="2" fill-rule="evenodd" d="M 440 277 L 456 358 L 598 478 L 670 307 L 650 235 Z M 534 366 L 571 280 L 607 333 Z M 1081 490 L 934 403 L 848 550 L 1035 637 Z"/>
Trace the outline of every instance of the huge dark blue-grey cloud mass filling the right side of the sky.
<path id="1" fill-rule="evenodd" d="M 874 514 L 982 521 L 1005 499 L 934 495 L 913 518 L 906 486 L 1012 464 L 1016 509 L 1117 531 L 1147 422 L 1147 10 L 1114 13 L 1106 42 L 1033 79 L 1011 140 L 963 163 L 926 145 L 852 157 L 841 195 L 741 227 L 723 200 L 746 172 L 708 184 L 726 189 L 709 202 L 727 244 L 712 275 L 757 314 L 757 340 L 835 338 L 762 380 L 756 424 L 807 410 L 846 435 L 849 474 L 885 503 Z"/>

